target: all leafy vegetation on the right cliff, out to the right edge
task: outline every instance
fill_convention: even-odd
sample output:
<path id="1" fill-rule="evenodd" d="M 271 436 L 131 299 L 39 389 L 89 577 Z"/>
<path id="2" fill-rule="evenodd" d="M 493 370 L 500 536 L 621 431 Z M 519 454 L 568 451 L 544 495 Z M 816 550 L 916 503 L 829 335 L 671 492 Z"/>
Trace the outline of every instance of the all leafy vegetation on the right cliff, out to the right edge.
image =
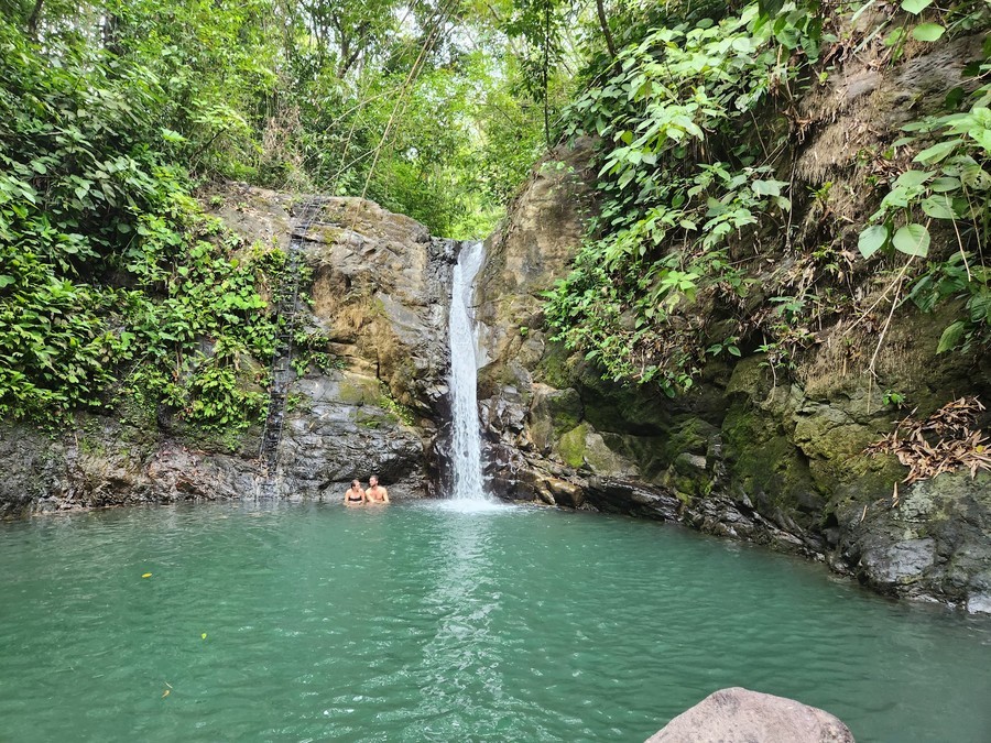
<path id="1" fill-rule="evenodd" d="M 792 368 L 816 341 L 814 328 L 880 305 L 868 308 L 857 296 L 857 285 L 876 274 L 891 282 L 885 310 L 906 296 L 926 310 L 965 297 L 966 314 L 944 332 L 941 351 L 988 341 L 988 85 L 952 90 L 944 111 L 905 125 L 889 150 L 862 153 L 850 181 L 864 182 L 869 196 L 849 195 L 856 205 L 847 214 L 832 210 L 831 182 L 796 193 L 788 168 L 805 140 L 799 99 L 825 84 L 837 54 L 884 34 L 895 64 L 910 40 L 989 23 L 983 3 L 873 4 L 673 3 L 664 18 L 625 19 L 622 50 L 592 58 L 582 74 L 589 84 L 566 111 L 566 133 L 602 141 L 601 204 L 573 273 L 548 297 L 559 340 L 608 378 L 676 394 L 693 385 L 707 356 L 723 351 L 759 351 L 773 368 Z M 854 31 L 851 15 L 864 12 L 876 18 Z M 965 76 L 987 79 L 989 53 L 985 41 L 981 58 L 961 61 Z M 794 219 L 796 200 L 818 209 L 823 223 L 808 229 Z M 863 214 L 871 203 L 880 207 Z M 934 220 L 944 226 L 938 249 Z M 850 264 L 850 222 L 862 226 L 863 258 L 880 251 L 868 267 Z M 913 264 L 917 258 L 930 262 Z M 789 271 L 774 270 L 788 263 Z"/>

